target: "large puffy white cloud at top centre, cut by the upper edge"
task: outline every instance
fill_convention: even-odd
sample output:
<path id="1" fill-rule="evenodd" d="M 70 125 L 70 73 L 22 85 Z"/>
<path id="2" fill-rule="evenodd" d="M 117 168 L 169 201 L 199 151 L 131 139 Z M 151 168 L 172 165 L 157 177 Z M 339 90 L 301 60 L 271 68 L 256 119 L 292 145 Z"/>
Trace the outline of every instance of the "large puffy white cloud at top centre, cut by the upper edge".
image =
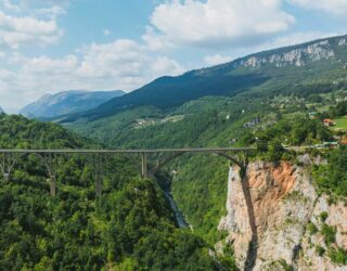
<path id="1" fill-rule="evenodd" d="M 157 34 L 144 37 L 149 43 L 210 48 L 254 44 L 286 30 L 295 18 L 281 0 L 171 0 L 157 5 L 151 23 Z"/>

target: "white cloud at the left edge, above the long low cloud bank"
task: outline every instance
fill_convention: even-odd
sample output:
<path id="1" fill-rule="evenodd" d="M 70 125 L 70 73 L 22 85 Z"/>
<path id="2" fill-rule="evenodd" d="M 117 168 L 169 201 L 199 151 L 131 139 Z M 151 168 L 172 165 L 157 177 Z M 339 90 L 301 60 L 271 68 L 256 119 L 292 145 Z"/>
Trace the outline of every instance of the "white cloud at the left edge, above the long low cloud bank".
<path id="1" fill-rule="evenodd" d="M 17 49 L 23 44 L 55 42 L 63 31 L 55 21 L 29 16 L 12 16 L 0 11 L 0 44 Z"/>

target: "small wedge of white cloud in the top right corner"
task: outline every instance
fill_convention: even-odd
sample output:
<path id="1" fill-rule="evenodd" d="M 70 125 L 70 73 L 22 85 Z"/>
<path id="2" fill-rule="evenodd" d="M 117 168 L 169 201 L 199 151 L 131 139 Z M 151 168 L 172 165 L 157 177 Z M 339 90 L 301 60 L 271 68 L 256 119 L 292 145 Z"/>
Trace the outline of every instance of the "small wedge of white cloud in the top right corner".
<path id="1" fill-rule="evenodd" d="M 347 16 L 347 0 L 288 0 L 288 2 L 310 10 L 321 10 L 342 17 Z"/>

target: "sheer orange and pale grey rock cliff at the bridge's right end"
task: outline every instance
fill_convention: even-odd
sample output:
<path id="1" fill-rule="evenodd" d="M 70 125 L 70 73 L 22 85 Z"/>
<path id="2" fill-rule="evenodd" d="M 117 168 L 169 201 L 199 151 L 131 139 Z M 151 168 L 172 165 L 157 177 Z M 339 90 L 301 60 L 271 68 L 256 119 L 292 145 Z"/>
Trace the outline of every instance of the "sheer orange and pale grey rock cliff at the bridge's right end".
<path id="1" fill-rule="evenodd" d="M 243 179 L 230 168 L 227 210 L 219 230 L 229 232 L 242 270 L 347 270 L 330 253 L 347 249 L 347 208 L 318 196 L 301 167 L 253 163 Z M 335 231 L 331 244 L 323 228 Z"/>

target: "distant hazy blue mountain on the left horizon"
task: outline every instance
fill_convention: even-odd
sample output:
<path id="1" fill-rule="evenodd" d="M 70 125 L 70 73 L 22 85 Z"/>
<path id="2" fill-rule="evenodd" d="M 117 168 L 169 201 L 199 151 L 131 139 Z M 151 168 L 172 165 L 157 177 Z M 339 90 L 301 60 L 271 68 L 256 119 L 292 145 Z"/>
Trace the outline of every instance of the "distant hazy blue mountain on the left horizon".
<path id="1" fill-rule="evenodd" d="M 30 118 L 51 118 L 60 115 L 92 109 L 124 91 L 64 91 L 56 94 L 46 94 L 38 101 L 25 106 L 21 114 Z"/>

